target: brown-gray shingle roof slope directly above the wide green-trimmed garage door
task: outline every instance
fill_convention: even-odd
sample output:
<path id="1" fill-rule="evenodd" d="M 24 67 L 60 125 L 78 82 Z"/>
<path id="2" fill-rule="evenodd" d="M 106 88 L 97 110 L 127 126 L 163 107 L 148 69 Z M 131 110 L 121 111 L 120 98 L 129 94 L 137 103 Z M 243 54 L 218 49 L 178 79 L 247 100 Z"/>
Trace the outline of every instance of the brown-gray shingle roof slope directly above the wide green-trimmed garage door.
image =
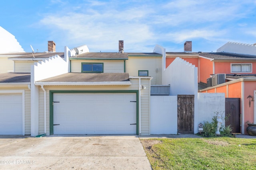
<path id="1" fill-rule="evenodd" d="M 129 81 L 128 73 L 75 73 L 69 72 L 38 82 L 119 82 Z"/>

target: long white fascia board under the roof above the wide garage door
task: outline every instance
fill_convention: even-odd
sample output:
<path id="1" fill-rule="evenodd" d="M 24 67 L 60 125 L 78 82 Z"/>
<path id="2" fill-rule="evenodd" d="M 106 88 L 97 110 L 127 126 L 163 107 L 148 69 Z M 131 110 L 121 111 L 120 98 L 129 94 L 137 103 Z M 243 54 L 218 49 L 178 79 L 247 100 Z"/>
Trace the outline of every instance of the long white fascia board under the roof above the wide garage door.
<path id="1" fill-rule="evenodd" d="M 130 86 L 128 82 L 35 82 L 36 86 Z"/>

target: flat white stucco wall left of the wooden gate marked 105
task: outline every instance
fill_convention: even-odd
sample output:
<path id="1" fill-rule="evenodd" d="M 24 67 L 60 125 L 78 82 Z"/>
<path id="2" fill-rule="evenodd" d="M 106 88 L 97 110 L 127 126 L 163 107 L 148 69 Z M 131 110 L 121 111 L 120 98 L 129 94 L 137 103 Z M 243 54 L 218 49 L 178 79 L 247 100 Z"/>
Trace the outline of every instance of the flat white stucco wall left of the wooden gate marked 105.
<path id="1" fill-rule="evenodd" d="M 150 134 L 177 134 L 177 96 L 150 96 Z"/>

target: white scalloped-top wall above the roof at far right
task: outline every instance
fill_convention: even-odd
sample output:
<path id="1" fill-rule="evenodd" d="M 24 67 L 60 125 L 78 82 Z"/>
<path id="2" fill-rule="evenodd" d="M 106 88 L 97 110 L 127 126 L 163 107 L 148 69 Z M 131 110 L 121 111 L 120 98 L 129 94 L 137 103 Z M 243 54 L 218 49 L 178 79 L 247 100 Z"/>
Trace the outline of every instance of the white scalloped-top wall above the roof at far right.
<path id="1" fill-rule="evenodd" d="M 217 49 L 217 52 L 256 55 L 256 45 L 228 42 Z"/>

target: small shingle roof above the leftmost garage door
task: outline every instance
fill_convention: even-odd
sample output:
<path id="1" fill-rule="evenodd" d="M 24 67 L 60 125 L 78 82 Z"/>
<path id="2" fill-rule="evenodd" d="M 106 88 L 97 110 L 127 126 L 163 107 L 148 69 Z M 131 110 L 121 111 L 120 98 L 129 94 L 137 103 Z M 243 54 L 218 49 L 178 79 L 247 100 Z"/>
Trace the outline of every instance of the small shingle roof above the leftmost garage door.
<path id="1" fill-rule="evenodd" d="M 30 73 L 8 72 L 0 74 L 0 83 L 30 82 Z"/>

